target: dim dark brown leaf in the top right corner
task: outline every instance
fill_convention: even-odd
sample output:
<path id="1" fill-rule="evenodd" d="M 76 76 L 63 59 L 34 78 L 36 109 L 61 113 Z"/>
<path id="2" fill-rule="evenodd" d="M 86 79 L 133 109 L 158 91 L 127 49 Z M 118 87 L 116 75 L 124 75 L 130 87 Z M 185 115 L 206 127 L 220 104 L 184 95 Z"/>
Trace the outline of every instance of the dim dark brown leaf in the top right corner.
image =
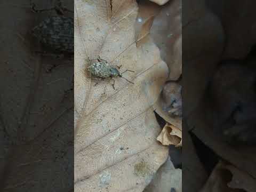
<path id="1" fill-rule="evenodd" d="M 228 0 L 220 1 L 218 6 L 226 34 L 223 59 L 245 58 L 256 43 L 256 2 Z"/>

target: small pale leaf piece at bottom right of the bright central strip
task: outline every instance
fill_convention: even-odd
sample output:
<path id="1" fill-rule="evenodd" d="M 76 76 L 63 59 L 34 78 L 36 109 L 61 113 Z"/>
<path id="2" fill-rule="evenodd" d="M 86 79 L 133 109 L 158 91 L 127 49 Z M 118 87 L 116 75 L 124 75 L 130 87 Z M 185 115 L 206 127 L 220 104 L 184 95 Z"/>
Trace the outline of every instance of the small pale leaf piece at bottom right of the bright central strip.
<path id="1" fill-rule="evenodd" d="M 175 169 L 169 157 L 143 192 L 170 192 L 172 188 L 182 191 L 182 171 Z"/>

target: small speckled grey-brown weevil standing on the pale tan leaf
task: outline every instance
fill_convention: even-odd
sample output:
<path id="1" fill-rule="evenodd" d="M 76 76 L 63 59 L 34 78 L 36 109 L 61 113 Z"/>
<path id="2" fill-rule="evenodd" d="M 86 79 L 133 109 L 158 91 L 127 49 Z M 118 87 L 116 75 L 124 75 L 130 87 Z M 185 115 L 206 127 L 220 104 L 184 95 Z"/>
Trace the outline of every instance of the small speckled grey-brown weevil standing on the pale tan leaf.
<path id="1" fill-rule="evenodd" d="M 89 59 L 89 61 L 92 60 L 97 60 L 98 62 L 94 62 L 92 63 L 89 67 L 87 67 L 87 70 L 89 71 L 89 73 L 93 76 L 93 77 L 97 77 L 97 78 L 112 78 L 113 79 L 113 88 L 115 89 L 115 77 L 122 77 L 124 78 L 127 82 L 133 84 L 133 82 L 129 81 L 128 79 L 126 79 L 125 77 L 122 76 L 123 73 L 127 72 L 127 71 L 131 71 L 134 73 L 133 70 L 129 70 L 126 69 L 123 73 L 120 73 L 120 71 L 117 68 L 120 67 L 113 67 L 111 65 L 109 65 L 109 63 L 106 60 L 101 59 L 100 57 L 98 57 L 97 59 Z M 96 83 L 95 85 L 97 85 L 98 83 Z M 94 85 L 94 86 L 95 86 Z"/>

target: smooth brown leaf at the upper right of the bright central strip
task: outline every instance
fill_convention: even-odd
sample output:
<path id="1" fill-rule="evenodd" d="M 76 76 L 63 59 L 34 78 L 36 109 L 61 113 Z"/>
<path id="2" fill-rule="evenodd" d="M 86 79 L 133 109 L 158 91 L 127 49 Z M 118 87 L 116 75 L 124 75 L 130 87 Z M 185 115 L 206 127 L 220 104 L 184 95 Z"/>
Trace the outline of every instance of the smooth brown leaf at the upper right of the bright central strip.
<path id="1" fill-rule="evenodd" d="M 169 67 L 169 80 L 176 81 L 182 72 L 181 1 L 167 3 L 156 16 L 150 36 Z"/>

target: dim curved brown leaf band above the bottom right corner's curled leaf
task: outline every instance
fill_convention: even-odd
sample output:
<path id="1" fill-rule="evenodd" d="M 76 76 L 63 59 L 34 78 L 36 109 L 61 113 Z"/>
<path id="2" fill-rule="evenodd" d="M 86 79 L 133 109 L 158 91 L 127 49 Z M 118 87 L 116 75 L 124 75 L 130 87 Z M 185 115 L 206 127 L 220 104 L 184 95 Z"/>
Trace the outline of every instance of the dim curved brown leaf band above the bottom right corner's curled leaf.
<path id="1" fill-rule="evenodd" d="M 205 145 L 227 162 L 255 178 L 256 157 L 252 152 L 255 151 L 255 146 L 234 147 L 223 141 L 221 137 L 217 137 L 217 129 L 213 126 L 215 114 L 212 112 L 212 108 L 209 107 L 208 101 L 209 98 L 204 98 L 193 114 L 188 116 L 189 131 L 193 132 Z"/>

